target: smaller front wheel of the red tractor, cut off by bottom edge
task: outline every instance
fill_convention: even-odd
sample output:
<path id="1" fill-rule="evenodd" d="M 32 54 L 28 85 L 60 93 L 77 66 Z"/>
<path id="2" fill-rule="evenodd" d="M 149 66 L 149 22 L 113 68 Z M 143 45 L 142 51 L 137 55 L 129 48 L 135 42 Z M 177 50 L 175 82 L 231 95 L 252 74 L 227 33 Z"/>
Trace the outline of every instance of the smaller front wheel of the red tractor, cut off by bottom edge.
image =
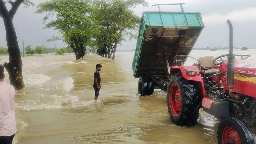
<path id="1" fill-rule="evenodd" d="M 255 144 L 255 136 L 251 127 L 242 119 L 227 117 L 218 126 L 219 144 Z"/>

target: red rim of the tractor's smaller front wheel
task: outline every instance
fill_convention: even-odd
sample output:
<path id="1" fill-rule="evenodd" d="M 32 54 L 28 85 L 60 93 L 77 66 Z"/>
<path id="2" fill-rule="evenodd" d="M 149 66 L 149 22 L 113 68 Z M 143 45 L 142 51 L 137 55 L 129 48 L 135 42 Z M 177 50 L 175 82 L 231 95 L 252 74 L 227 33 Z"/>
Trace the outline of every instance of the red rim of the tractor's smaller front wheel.
<path id="1" fill-rule="evenodd" d="M 241 144 L 240 137 L 236 130 L 232 127 L 226 127 L 222 132 L 222 143 L 234 143 L 234 144 Z"/>

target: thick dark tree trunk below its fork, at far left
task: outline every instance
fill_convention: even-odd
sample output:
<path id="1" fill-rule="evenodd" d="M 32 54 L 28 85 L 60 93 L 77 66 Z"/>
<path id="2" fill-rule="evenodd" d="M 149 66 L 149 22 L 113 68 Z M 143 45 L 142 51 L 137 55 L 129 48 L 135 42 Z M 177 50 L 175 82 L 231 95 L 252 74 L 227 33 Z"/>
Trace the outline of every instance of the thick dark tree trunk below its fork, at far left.
<path id="1" fill-rule="evenodd" d="M 12 23 L 12 18 L 4 18 L 3 20 L 9 52 L 9 63 L 4 62 L 4 67 L 9 74 L 10 84 L 14 86 L 15 90 L 20 90 L 25 87 L 22 76 L 22 60 L 20 56 L 20 48 Z"/>

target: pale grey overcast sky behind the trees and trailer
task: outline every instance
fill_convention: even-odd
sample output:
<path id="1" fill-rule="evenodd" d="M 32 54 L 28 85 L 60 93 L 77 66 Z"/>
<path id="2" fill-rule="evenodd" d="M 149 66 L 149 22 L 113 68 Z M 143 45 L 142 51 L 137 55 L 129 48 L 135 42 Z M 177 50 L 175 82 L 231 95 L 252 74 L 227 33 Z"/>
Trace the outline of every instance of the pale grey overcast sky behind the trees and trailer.
<path id="1" fill-rule="evenodd" d="M 44 15 L 34 13 L 39 3 L 47 0 L 31 0 L 35 6 L 25 8 L 21 5 L 18 9 L 13 23 L 18 36 L 20 49 L 23 43 L 32 45 L 44 45 L 47 47 L 67 46 L 62 41 L 45 41 L 53 35 L 58 35 L 53 29 L 43 29 L 42 19 Z M 227 19 L 234 28 L 234 47 L 256 48 L 256 0 L 146 0 L 149 7 L 137 7 L 134 12 L 141 16 L 143 11 L 158 11 L 153 4 L 186 3 L 183 5 L 185 12 L 200 12 L 204 22 L 204 29 L 194 47 L 228 47 L 229 29 Z M 162 6 L 162 11 L 180 11 L 177 6 Z M 137 40 L 123 42 L 118 46 L 119 50 L 135 49 Z M 2 18 L 0 18 L 0 46 L 6 47 L 5 29 Z"/>

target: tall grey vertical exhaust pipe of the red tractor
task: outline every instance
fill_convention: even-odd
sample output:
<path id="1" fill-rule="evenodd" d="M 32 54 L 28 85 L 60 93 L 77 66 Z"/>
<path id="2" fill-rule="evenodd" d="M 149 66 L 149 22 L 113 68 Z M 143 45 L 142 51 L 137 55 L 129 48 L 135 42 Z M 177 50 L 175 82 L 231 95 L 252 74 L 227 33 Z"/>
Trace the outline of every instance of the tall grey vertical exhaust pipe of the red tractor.
<path id="1" fill-rule="evenodd" d="M 233 52 L 233 26 L 230 20 L 227 20 L 229 26 L 229 54 L 228 54 L 228 89 L 229 94 L 233 97 L 232 89 L 234 88 L 235 77 L 235 54 Z"/>

